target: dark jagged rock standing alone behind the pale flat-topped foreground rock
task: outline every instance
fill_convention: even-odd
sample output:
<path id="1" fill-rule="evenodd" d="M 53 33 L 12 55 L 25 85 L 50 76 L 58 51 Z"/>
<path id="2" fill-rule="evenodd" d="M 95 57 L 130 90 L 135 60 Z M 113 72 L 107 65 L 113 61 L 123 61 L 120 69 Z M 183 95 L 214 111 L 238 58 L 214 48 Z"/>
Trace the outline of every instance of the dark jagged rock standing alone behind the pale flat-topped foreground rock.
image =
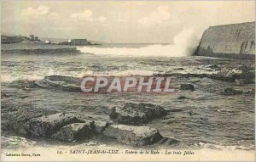
<path id="1" fill-rule="evenodd" d="M 123 108 L 114 107 L 109 117 L 121 124 L 148 123 L 149 120 L 166 115 L 162 107 L 150 103 L 125 103 Z"/>

